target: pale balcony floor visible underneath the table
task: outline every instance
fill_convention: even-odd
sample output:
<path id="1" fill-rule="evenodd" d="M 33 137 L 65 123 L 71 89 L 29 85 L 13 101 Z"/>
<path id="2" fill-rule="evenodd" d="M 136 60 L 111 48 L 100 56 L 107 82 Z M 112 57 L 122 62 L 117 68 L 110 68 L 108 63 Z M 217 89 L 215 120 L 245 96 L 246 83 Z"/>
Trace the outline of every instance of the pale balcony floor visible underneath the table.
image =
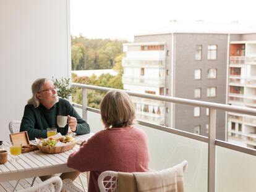
<path id="1" fill-rule="evenodd" d="M 81 173 L 80 176 L 82 178 L 83 185 L 85 185 L 85 188 L 87 188 L 86 173 Z M 25 188 L 30 187 L 32 180 L 33 180 L 33 178 L 21 179 L 19 182 L 19 185 L 17 185 L 16 191 L 23 190 Z M 9 181 L 9 182 L 1 182 L 0 183 L 0 191 L 1 192 L 12 192 L 12 190 L 14 190 L 14 186 L 16 185 L 16 183 L 17 183 L 17 180 L 13 180 L 13 181 Z M 36 177 L 34 185 L 37 185 L 38 183 L 41 183 L 41 180 L 39 177 Z M 74 185 L 79 187 L 81 190 L 83 190 L 82 184 L 80 183 L 80 180 L 78 177 L 75 180 Z"/>

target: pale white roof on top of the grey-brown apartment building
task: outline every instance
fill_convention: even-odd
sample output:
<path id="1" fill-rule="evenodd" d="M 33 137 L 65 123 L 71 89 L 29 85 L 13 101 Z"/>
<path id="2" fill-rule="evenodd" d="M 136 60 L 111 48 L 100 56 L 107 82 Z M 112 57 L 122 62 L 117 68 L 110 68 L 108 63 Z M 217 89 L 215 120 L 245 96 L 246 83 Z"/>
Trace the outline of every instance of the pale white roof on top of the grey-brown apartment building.
<path id="1" fill-rule="evenodd" d="M 167 27 L 135 36 L 160 35 L 169 33 L 211 33 L 211 34 L 249 34 L 256 33 L 256 22 L 204 22 L 171 20 Z"/>

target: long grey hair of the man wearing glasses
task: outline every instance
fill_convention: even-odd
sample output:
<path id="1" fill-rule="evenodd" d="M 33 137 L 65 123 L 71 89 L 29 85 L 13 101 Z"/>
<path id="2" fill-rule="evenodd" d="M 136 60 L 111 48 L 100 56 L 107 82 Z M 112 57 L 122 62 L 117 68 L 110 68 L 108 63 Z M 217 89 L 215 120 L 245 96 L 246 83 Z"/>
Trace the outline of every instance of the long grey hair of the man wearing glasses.
<path id="1" fill-rule="evenodd" d="M 45 85 L 46 81 L 48 81 L 48 78 L 38 78 L 35 80 L 31 86 L 32 88 L 32 98 L 28 99 L 28 104 L 33 104 L 33 106 L 36 108 L 40 105 L 39 99 L 36 97 L 36 93 L 41 91 L 43 85 Z"/>

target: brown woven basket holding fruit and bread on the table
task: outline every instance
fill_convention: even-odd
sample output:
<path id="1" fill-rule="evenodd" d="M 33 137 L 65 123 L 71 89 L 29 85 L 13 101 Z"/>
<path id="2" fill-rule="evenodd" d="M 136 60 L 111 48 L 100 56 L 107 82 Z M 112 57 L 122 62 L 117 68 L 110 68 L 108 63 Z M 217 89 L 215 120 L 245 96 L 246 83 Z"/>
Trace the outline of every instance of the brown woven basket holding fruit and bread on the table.
<path id="1" fill-rule="evenodd" d="M 41 152 L 44 152 L 44 153 L 60 153 L 60 152 L 65 152 L 65 151 L 69 151 L 70 149 L 73 149 L 75 144 L 77 144 L 77 141 L 71 141 L 69 143 L 66 143 L 63 146 L 50 147 L 50 146 L 42 146 L 40 142 L 38 143 L 38 148 Z"/>

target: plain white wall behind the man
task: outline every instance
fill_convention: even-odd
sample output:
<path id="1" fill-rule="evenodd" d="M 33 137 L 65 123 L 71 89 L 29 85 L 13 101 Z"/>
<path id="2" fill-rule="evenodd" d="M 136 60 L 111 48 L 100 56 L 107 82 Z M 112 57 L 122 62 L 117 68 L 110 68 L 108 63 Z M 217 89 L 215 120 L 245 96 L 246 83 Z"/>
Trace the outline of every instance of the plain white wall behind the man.
<path id="1" fill-rule="evenodd" d="M 0 140 L 36 78 L 70 77 L 69 0 L 0 0 Z"/>

